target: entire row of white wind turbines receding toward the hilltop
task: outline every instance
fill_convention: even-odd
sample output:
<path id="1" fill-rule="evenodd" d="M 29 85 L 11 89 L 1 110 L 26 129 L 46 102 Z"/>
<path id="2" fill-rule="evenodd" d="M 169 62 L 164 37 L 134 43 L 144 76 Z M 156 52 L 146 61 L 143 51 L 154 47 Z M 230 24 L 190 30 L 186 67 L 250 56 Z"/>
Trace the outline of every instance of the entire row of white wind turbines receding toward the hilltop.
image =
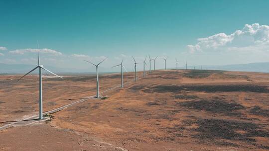
<path id="1" fill-rule="evenodd" d="M 38 46 L 38 49 L 39 49 L 39 45 L 37 45 L 37 46 Z M 136 81 L 137 80 L 137 75 L 136 75 L 136 65 L 137 65 L 137 62 L 135 61 L 134 56 L 132 56 L 132 57 L 133 57 L 133 60 L 134 60 L 134 81 Z M 151 74 L 151 61 L 154 62 L 154 68 L 153 69 L 155 71 L 155 61 L 156 61 L 156 59 L 157 59 L 158 56 L 155 57 L 155 59 L 151 59 L 149 55 L 148 55 L 148 57 L 149 57 L 149 74 Z M 143 76 L 145 76 L 145 66 L 147 66 L 147 64 L 146 64 L 146 58 L 147 58 L 147 56 L 145 57 L 145 59 L 143 61 Z M 85 62 L 88 62 L 88 63 L 90 63 L 90 64 L 92 64 L 92 65 L 94 65 L 96 67 L 96 98 L 99 98 L 100 97 L 100 95 L 99 95 L 99 77 L 98 77 L 98 73 L 99 72 L 98 72 L 98 67 L 106 59 L 107 58 L 105 58 L 104 60 L 102 60 L 99 64 L 93 64 L 90 61 L 84 60 Z M 166 60 L 167 60 L 167 57 L 166 58 L 163 58 L 163 60 L 164 60 L 164 69 L 166 70 Z M 178 60 L 176 59 L 176 69 L 178 69 L 177 68 L 177 63 L 178 63 Z M 118 67 L 118 66 L 121 66 L 121 87 L 124 87 L 123 69 L 126 72 L 128 72 L 128 71 L 126 70 L 126 68 L 123 65 L 123 60 L 122 60 L 121 64 L 116 65 L 116 66 L 113 66 L 112 68 Z M 24 76 L 30 74 L 31 72 L 35 71 L 36 69 L 39 69 L 39 119 L 41 120 L 41 119 L 43 119 L 43 107 L 42 107 L 42 98 L 43 98 L 42 97 L 42 69 L 45 70 L 45 71 L 47 71 L 47 72 L 49 72 L 49 73 L 51 73 L 52 75 L 57 76 L 57 77 L 60 77 L 60 78 L 63 78 L 63 77 L 61 77 L 59 75 L 56 75 L 56 74 L 50 72 L 49 70 L 45 69 L 44 66 L 40 64 L 40 56 L 39 56 L 39 52 L 38 52 L 38 65 L 34 69 L 32 69 L 30 72 L 28 72 L 27 74 L 21 76 L 17 81 L 19 81 L 20 79 L 22 79 Z M 186 63 L 186 69 L 187 69 L 187 63 Z"/>

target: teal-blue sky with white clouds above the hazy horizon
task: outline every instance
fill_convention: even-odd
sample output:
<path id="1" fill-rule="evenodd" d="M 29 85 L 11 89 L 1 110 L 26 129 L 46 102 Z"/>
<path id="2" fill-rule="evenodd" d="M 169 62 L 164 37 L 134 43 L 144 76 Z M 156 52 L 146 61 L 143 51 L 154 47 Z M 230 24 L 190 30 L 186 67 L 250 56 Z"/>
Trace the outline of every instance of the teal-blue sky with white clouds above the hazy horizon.
<path id="1" fill-rule="evenodd" d="M 109 57 L 104 66 L 121 58 L 131 66 L 131 55 L 141 61 L 147 54 L 168 56 L 168 67 L 175 57 L 182 65 L 269 57 L 269 0 L 0 0 L 0 14 L 0 62 L 6 64 L 35 64 L 37 39 L 43 63 L 57 67 L 82 68 L 81 60 L 103 56 Z M 237 30 L 244 33 L 233 36 Z"/>

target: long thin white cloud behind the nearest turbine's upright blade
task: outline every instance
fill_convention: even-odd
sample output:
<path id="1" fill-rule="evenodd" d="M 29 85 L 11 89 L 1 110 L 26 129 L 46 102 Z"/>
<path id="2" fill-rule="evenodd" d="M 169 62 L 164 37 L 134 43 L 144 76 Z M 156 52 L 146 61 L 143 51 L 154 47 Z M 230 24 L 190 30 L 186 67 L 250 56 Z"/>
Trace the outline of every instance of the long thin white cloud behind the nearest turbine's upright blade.
<path id="1" fill-rule="evenodd" d="M 18 54 L 18 55 L 23 55 L 24 53 L 37 53 L 37 52 L 44 53 L 44 54 L 52 54 L 52 55 L 56 55 L 56 56 L 62 55 L 62 53 L 60 53 L 60 52 L 57 52 L 57 51 L 51 50 L 51 49 L 47 49 L 47 48 L 44 48 L 44 49 L 28 48 L 28 49 L 16 49 L 13 51 L 9 51 L 9 53 L 11 53 L 11 54 Z"/>

